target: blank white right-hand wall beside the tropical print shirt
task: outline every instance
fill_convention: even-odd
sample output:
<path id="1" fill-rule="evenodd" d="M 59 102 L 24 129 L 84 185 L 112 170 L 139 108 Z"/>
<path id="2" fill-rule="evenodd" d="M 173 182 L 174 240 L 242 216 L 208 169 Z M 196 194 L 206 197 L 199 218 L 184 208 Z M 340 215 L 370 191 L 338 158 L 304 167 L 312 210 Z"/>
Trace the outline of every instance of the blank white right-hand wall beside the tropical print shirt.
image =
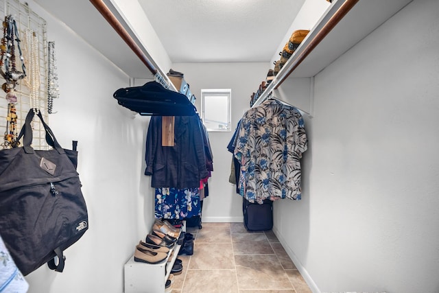
<path id="1" fill-rule="evenodd" d="M 439 2 L 316 76 L 302 201 L 275 229 L 313 292 L 439 292 Z"/>

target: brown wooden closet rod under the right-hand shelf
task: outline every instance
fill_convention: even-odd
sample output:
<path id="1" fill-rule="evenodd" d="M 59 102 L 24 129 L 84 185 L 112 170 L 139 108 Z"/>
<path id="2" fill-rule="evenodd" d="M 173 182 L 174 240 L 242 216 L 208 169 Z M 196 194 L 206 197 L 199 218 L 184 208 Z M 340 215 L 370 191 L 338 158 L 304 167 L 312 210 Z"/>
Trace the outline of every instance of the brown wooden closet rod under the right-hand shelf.
<path id="1" fill-rule="evenodd" d="M 309 53 L 311 53 L 311 51 L 313 51 L 313 49 L 320 43 L 320 41 L 322 41 L 323 38 L 327 36 L 329 32 L 331 32 L 335 25 L 337 25 L 337 23 L 343 19 L 343 17 L 349 12 L 349 10 L 351 10 L 351 8 L 354 7 L 354 5 L 358 1 L 359 0 L 346 0 L 340 6 L 340 8 L 338 8 L 333 16 L 331 16 L 331 19 L 329 19 L 329 21 L 325 23 L 322 29 L 309 42 L 307 47 L 303 49 L 302 53 L 300 53 L 300 55 L 293 60 L 292 67 L 289 67 L 289 71 L 285 75 L 283 75 L 282 78 L 279 79 L 274 89 L 278 89 L 278 87 L 281 86 L 282 82 L 284 82 L 288 78 L 288 76 L 294 71 L 294 69 L 296 69 L 303 60 L 305 60 Z"/>

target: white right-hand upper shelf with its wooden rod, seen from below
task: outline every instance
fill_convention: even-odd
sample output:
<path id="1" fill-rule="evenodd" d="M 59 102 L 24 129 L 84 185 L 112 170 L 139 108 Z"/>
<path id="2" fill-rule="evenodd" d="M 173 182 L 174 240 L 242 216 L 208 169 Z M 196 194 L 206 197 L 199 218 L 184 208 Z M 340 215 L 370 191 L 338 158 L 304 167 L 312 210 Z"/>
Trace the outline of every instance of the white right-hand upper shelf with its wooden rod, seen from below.
<path id="1" fill-rule="evenodd" d="M 412 0 L 337 0 L 324 12 L 294 54 L 253 106 L 261 104 L 274 89 L 311 78 L 342 56 L 370 32 L 390 19 Z M 301 28 L 297 28 L 298 30 Z M 373 58 L 373 56 L 371 56 Z"/>

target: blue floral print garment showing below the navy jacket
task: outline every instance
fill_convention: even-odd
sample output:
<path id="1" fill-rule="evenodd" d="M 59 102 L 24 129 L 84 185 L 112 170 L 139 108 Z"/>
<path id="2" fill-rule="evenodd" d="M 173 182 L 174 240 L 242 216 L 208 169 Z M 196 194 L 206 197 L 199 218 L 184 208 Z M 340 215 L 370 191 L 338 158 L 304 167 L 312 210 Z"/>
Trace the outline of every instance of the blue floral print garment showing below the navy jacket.
<path id="1" fill-rule="evenodd" d="M 200 215 L 201 200 L 198 188 L 156 188 L 155 217 L 184 219 Z"/>

